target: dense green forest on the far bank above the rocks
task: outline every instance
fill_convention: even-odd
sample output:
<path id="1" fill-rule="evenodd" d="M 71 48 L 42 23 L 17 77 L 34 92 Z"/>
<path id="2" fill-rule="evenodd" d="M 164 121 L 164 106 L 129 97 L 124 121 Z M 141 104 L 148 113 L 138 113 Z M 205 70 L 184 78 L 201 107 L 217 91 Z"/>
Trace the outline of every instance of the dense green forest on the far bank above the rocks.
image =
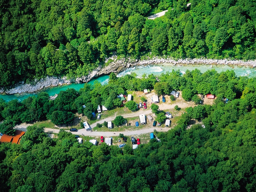
<path id="1" fill-rule="evenodd" d="M 191 3 L 190 6 L 187 6 Z M 2 0 L 0 85 L 88 74 L 119 57 L 255 59 L 253 0 Z M 147 17 L 168 9 L 155 20 Z"/>

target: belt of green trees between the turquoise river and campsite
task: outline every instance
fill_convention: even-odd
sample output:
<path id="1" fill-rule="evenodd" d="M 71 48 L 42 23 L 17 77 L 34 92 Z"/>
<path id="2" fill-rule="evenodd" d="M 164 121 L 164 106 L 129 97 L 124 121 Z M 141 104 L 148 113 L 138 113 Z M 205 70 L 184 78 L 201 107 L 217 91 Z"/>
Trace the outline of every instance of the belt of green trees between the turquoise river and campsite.
<path id="1" fill-rule="evenodd" d="M 5 102 L 0 99 L 0 132 L 12 135 L 12 129 L 18 123 L 31 123 L 49 119 L 52 123 L 70 124 L 74 120 L 74 114 L 84 114 L 89 119 L 92 112 L 97 111 L 98 105 L 104 105 L 110 109 L 119 107 L 122 102 L 117 98 L 118 94 L 124 94 L 127 90 L 143 91 L 154 89 L 158 95 L 170 94 L 172 90 L 182 91 L 184 100 L 193 100 L 200 103 L 197 94 L 214 94 L 218 98 L 234 100 L 244 98 L 240 108 L 245 111 L 256 106 L 256 78 L 237 77 L 234 71 L 218 73 L 215 69 L 201 73 L 200 70 L 187 70 L 186 74 L 177 70 L 163 73 L 158 77 L 143 75 L 136 78 L 136 74 L 116 77 L 114 73 L 109 76 L 109 82 L 101 85 L 95 81 L 93 85 L 84 84 L 79 91 L 67 89 L 61 91 L 55 100 L 50 100 L 48 93 L 40 92 L 37 96 L 28 97 L 19 102 L 11 100 Z M 86 107 L 83 108 L 83 105 Z M 201 106 L 201 105 L 200 105 Z"/>

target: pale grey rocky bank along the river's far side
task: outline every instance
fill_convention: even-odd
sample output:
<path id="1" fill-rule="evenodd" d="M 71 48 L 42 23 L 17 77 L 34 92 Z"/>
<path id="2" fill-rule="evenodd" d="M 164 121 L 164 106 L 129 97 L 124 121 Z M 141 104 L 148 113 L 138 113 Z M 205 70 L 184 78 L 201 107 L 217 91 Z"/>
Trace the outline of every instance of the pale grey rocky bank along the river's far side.
<path id="1" fill-rule="evenodd" d="M 66 77 L 54 77 L 54 76 L 47 76 L 45 79 L 40 79 L 39 81 L 35 82 L 35 84 L 24 84 L 24 82 L 20 82 L 16 84 L 14 88 L 9 88 L 4 90 L 3 88 L 0 89 L 0 93 L 6 94 L 15 94 L 15 93 L 33 93 L 38 92 L 47 87 L 53 86 L 60 86 L 63 84 L 70 84 L 70 83 L 87 83 L 93 78 L 96 78 L 101 75 L 108 75 L 111 72 L 119 73 L 127 68 L 135 67 L 135 66 L 144 66 L 144 65 L 154 65 L 154 64 L 164 64 L 169 63 L 173 65 L 238 65 L 238 66 L 248 66 L 248 67 L 255 67 L 256 61 L 242 61 L 242 60 L 212 60 L 212 59 L 179 59 L 174 60 L 172 58 L 153 58 L 148 60 L 131 60 L 130 58 L 123 58 L 123 59 L 116 59 L 116 56 L 111 57 L 113 60 L 108 66 L 104 68 L 98 67 L 97 69 L 93 70 L 88 76 L 77 77 L 76 79 L 67 79 Z M 23 83 L 23 84 L 22 84 Z"/>

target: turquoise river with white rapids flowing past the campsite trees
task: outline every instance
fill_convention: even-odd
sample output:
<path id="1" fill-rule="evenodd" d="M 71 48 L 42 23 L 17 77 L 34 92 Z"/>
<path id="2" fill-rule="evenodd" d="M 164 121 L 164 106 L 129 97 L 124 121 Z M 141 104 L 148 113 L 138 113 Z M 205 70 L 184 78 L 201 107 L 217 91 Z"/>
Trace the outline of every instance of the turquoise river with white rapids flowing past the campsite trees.
<path id="1" fill-rule="evenodd" d="M 255 77 L 256 76 L 256 68 L 249 68 L 249 67 L 238 67 L 238 66 L 228 66 L 228 65 L 176 65 L 173 66 L 173 64 L 162 64 L 162 65 L 148 65 L 148 66 L 139 66 L 134 68 L 129 68 L 124 70 L 123 72 L 119 73 L 117 76 L 123 76 L 125 74 L 131 74 L 132 72 L 136 73 L 138 77 L 141 77 L 143 74 L 154 74 L 156 76 L 161 75 L 162 73 L 166 73 L 167 71 L 174 70 L 180 70 L 182 73 L 185 73 L 186 70 L 192 71 L 193 69 L 200 69 L 202 73 L 207 71 L 208 69 L 214 68 L 218 73 L 221 71 L 226 70 L 234 70 L 236 73 L 236 76 L 248 76 L 248 77 Z M 92 79 L 88 82 L 88 84 L 93 84 L 94 81 L 99 81 L 101 84 L 107 84 L 108 83 L 108 76 L 100 76 L 96 79 Z M 76 90 L 79 90 L 82 88 L 84 84 L 68 84 L 68 85 L 62 85 L 57 87 L 51 87 L 47 88 L 45 90 L 42 90 L 44 92 L 47 92 L 50 96 L 53 96 L 55 94 L 58 94 L 60 91 L 65 91 L 67 88 L 74 88 Z M 20 101 L 28 98 L 29 96 L 36 95 L 36 93 L 23 93 L 21 95 L 19 94 L 13 94 L 13 95 L 0 95 L 0 98 L 3 98 L 5 101 L 10 101 L 13 99 L 18 99 Z"/>

